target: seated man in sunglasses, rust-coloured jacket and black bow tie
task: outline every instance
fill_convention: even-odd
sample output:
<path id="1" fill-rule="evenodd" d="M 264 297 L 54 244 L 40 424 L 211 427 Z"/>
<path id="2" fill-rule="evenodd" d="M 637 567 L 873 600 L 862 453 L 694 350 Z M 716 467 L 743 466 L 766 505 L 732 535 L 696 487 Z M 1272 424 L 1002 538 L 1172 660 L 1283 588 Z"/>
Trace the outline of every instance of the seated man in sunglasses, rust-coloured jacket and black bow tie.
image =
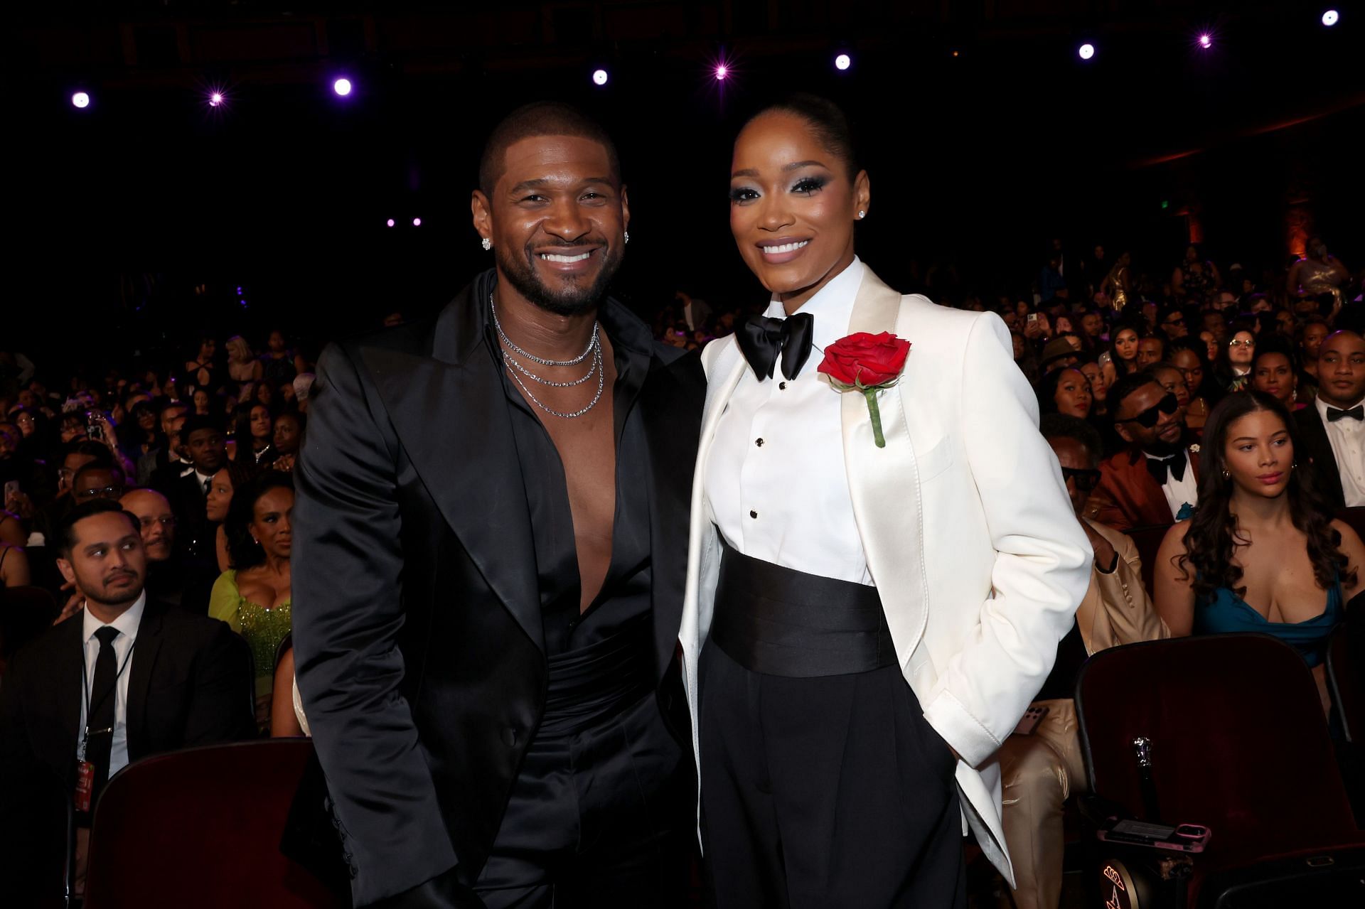
<path id="1" fill-rule="evenodd" d="M 1198 501 L 1185 409 L 1147 371 L 1121 378 L 1108 400 L 1115 403 L 1114 429 L 1129 448 L 1100 464 L 1085 516 L 1115 530 L 1173 524 L 1185 505 Z"/>

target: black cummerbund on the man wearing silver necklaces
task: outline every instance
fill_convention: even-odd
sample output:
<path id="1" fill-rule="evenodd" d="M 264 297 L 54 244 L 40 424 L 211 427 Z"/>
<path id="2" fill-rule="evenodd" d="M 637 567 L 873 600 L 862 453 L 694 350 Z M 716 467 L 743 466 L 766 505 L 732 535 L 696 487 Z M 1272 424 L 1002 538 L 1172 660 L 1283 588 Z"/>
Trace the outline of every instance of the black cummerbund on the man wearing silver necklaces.
<path id="1" fill-rule="evenodd" d="M 536 736 L 566 736 L 624 711 L 654 689 L 654 629 L 650 613 L 621 631 L 550 656 L 545 717 Z"/>

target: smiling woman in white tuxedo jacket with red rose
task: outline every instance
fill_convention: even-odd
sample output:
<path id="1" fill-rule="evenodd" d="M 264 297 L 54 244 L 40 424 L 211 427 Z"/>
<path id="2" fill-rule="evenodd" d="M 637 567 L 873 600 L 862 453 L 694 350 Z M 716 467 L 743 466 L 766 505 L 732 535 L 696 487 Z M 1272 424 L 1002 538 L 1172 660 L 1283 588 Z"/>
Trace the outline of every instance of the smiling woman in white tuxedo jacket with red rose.
<path id="1" fill-rule="evenodd" d="M 680 637 L 708 876 L 722 909 L 965 906 L 968 824 L 1011 879 L 994 755 L 1091 547 L 1001 319 L 856 258 L 838 108 L 764 109 L 732 172 L 773 303 L 703 352 Z"/>

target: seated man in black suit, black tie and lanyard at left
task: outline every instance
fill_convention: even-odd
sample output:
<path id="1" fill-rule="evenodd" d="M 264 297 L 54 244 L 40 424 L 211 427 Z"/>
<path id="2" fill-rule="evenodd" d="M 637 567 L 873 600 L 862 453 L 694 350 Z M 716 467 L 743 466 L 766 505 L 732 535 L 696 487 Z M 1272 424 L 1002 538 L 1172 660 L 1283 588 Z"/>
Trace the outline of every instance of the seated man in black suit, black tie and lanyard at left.
<path id="1" fill-rule="evenodd" d="M 255 732 L 246 641 L 147 598 L 134 516 L 106 500 L 78 505 L 56 546 L 85 609 L 19 651 L 0 687 L 0 887 L 14 905 L 61 893 L 67 805 L 87 827 L 126 764 Z"/>

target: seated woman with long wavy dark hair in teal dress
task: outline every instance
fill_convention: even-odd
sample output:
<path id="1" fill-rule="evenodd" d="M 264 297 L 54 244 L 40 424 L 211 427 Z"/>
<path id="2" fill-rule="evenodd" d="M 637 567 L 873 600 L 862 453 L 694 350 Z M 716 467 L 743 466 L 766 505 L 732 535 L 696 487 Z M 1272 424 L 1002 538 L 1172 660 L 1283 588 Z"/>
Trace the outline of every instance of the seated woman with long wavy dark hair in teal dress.
<path id="1" fill-rule="evenodd" d="M 1365 543 L 1295 463 L 1297 423 L 1263 392 L 1231 394 L 1204 429 L 1198 508 L 1156 556 L 1156 610 L 1173 636 L 1260 632 L 1293 646 L 1317 678 Z"/>

